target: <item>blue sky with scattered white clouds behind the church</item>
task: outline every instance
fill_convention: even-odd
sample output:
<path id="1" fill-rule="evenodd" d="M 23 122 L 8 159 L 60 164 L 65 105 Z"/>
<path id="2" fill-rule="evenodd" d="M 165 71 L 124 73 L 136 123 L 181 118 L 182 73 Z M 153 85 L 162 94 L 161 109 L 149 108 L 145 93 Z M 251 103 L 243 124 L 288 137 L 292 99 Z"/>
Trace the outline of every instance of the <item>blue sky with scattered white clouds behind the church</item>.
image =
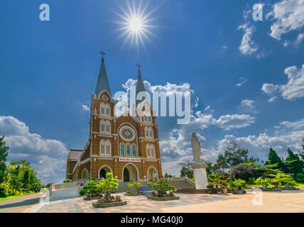
<path id="1" fill-rule="evenodd" d="M 39 20 L 42 3 L 50 21 Z M 252 19 L 256 3 L 263 21 Z M 153 0 L 147 12 L 158 7 L 150 17 L 156 36 L 148 34 L 146 51 L 116 40 L 118 5 L 127 9 L 126 1 L 1 1 L 0 135 L 10 159 L 28 159 L 44 182 L 64 178 L 68 145 L 82 149 L 89 135 L 82 105 L 89 106 L 102 50 L 113 94 L 136 82 L 138 62 L 148 89 L 192 90 L 190 124 L 158 118 L 164 173 L 176 175 L 176 163 L 191 160 L 193 130 L 210 161 L 229 140 L 264 160 L 270 146 L 281 156 L 300 149 L 303 1 Z"/>

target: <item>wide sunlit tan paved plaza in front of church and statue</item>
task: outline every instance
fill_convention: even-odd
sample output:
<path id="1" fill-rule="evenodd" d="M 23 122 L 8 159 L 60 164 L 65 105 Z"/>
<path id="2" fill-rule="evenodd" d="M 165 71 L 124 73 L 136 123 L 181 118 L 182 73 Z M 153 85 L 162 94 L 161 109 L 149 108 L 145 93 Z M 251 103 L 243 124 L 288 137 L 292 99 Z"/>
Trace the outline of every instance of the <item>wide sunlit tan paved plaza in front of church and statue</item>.
<path id="1" fill-rule="evenodd" d="M 31 212 L 304 212 L 304 189 L 300 191 L 263 192 L 262 194 L 254 194 L 250 190 L 246 194 L 229 195 L 177 194 L 180 196 L 180 200 L 175 201 L 152 201 L 148 200 L 146 196 L 124 196 L 123 193 L 120 193 L 121 199 L 127 201 L 126 206 L 107 209 L 96 209 L 92 206 L 92 201 L 85 201 L 80 196 L 60 199 L 62 198 L 60 194 L 68 194 L 67 191 L 60 191 L 56 191 L 58 192 L 57 199 L 51 199 L 49 205 L 34 206 Z M 254 198 L 258 199 L 254 200 Z M 254 205 L 253 201 L 256 201 L 257 204 Z M 261 205 L 259 205 L 259 201 L 262 202 Z"/>

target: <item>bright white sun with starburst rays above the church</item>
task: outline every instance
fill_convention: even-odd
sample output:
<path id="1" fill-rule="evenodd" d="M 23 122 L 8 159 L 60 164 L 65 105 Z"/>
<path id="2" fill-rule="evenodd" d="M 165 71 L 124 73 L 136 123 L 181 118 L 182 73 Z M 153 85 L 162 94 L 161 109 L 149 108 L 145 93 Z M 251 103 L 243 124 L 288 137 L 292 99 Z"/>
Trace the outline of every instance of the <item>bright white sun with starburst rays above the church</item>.
<path id="1" fill-rule="evenodd" d="M 131 7 L 129 4 L 129 1 L 126 1 L 126 5 L 128 8 L 128 11 L 123 9 L 121 6 L 119 8 L 123 12 L 116 13 L 123 21 L 116 21 L 116 23 L 119 23 L 121 25 L 121 28 L 119 28 L 117 31 L 122 31 L 121 35 L 116 40 L 119 40 L 120 38 L 126 37 L 126 40 L 124 40 L 124 45 L 130 41 L 130 47 L 135 43 L 137 48 L 139 48 L 139 44 L 143 45 L 143 48 L 146 50 L 144 45 L 144 40 L 148 40 L 151 44 L 153 44 L 148 38 L 148 35 L 156 36 L 154 33 L 152 33 L 150 30 L 151 28 L 157 28 L 156 26 L 152 26 L 150 23 L 151 21 L 155 20 L 156 18 L 149 18 L 151 14 L 156 11 L 158 7 L 153 9 L 152 11 L 146 13 L 146 9 L 148 7 L 148 4 L 146 6 L 142 7 L 142 2 L 140 1 L 139 7 L 136 9 L 134 2 L 133 6 Z M 156 36 L 157 37 L 157 36 Z M 123 46 L 124 46 L 123 45 Z"/>

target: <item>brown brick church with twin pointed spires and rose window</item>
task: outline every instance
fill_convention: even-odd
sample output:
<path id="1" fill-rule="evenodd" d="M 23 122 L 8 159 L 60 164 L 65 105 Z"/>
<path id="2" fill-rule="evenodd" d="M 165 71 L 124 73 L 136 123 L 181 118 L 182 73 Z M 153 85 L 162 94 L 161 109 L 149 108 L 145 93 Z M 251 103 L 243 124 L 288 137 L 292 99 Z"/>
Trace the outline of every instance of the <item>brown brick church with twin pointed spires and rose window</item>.
<path id="1" fill-rule="evenodd" d="M 107 172 L 124 182 L 162 178 L 156 117 L 114 115 L 116 101 L 112 97 L 103 55 L 104 52 L 91 97 L 89 139 L 83 150 L 69 149 L 67 179 L 102 179 Z M 138 66 L 136 96 L 146 92 Z"/>

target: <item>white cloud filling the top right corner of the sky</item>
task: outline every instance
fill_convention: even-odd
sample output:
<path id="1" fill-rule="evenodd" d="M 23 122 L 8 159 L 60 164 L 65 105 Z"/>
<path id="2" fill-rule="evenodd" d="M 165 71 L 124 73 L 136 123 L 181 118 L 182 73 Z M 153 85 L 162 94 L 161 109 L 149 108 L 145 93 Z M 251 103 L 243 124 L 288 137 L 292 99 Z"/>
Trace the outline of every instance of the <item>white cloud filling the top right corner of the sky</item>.
<path id="1" fill-rule="evenodd" d="M 281 36 L 299 30 L 304 26 L 304 1 L 283 0 L 273 4 L 273 11 L 268 13 L 275 21 L 271 26 L 271 37 L 281 40 Z"/>

